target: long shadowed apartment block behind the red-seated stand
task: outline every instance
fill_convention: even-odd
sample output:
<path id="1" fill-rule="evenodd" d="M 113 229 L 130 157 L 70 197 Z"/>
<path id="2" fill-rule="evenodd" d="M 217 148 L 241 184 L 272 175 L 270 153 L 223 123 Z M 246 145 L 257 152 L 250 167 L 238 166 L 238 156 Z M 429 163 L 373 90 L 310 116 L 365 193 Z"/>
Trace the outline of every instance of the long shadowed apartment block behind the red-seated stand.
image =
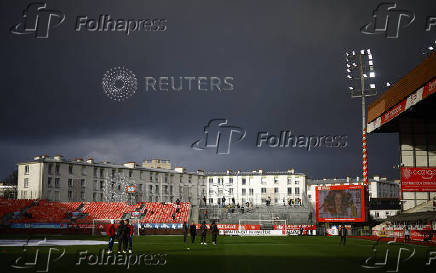
<path id="1" fill-rule="evenodd" d="M 149 168 L 152 165 L 155 168 Z M 61 202 L 182 202 L 199 203 L 206 194 L 202 171 L 171 169 L 169 161 L 152 160 L 138 166 L 65 160 L 62 156 L 36 156 L 18 164 L 18 199 Z"/>

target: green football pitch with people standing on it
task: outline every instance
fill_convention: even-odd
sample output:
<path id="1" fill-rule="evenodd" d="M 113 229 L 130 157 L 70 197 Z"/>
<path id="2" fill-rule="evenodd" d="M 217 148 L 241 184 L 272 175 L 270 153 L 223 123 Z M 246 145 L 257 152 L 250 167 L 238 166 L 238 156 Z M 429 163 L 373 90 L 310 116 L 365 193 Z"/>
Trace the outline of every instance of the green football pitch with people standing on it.
<path id="1" fill-rule="evenodd" d="M 3 240 L 19 238 L 26 237 L 0 236 Z M 50 239 L 107 240 L 98 236 L 48 236 Z M 376 245 L 357 238 L 348 238 L 346 246 L 341 246 L 338 237 L 221 236 L 218 244 L 212 245 L 209 236 L 207 245 L 200 245 L 198 237 L 194 244 L 184 244 L 182 236 L 136 236 L 133 254 L 110 257 L 101 256 L 105 247 L 0 247 L 0 262 L 2 272 L 436 272 L 436 247 Z"/>

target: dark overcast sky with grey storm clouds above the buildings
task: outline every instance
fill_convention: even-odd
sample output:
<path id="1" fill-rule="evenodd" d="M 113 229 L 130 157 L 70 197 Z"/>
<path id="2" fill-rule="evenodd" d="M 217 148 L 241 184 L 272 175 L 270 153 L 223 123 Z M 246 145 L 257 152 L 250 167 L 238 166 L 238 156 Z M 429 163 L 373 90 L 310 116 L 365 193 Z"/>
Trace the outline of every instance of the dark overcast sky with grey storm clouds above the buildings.
<path id="1" fill-rule="evenodd" d="M 365 35 L 380 1 L 48 1 L 65 21 L 47 39 L 13 35 L 31 3 L 0 2 L 0 177 L 36 154 L 115 163 L 163 158 L 189 170 L 286 170 L 361 176 L 361 105 L 346 94 L 344 54 L 371 48 L 378 92 L 419 64 L 436 38 L 435 1 L 397 1 L 415 22 L 398 39 Z M 431 14 L 433 11 L 433 14 Z M 77 16 L 164 18 L 163 32 L 76 32 Z M 105 96 L 104 73 L 132 70 L 138 90 Z M 146 76 L 234 77 L 228 92 L 145 92 Z M 373 100 L 373 99 L 372 99 Z M 191 144 L 209 120 L 246 131 L 228 155 Z M 256 147 L 257 134 L 346 135 L 343 149 Z M 370 135 L 369 175 L 398 178 L 398 135 Z"/>

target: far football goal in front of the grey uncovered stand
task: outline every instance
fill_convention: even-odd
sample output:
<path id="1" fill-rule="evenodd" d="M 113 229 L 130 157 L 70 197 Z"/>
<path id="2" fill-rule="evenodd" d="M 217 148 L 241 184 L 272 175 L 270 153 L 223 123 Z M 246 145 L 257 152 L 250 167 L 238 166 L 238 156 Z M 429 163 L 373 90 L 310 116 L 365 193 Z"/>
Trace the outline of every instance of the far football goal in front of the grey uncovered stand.
<path id="1" fill-rule="evenodd" d="M 238 235 L 240 236 L 285 236 L 287 234 L 287 222 L 283 219 L 239 219 Z"/>

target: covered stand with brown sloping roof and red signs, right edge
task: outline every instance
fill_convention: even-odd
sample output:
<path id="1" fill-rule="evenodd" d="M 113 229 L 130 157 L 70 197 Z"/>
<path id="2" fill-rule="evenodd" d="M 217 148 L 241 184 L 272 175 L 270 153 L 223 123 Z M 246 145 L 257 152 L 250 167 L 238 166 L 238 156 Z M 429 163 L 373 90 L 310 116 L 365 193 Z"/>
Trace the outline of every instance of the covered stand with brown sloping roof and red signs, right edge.
<path id="1" fill-rule="evenodd" d="M 368 107 L 368 133 L 398 134 L 404 211 L 430 208 L 436 200 L 435 94 L 436 53 L 432 53 Z"/>

